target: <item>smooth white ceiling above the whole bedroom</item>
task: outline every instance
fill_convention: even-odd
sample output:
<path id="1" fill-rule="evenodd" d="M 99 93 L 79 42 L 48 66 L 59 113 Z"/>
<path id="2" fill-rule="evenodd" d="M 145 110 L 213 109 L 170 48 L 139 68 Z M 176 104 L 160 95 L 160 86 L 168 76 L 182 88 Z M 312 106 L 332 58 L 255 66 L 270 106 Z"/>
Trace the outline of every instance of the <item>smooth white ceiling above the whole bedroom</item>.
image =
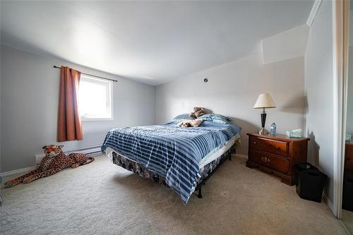
<path id="1" fill-rule="evenodd" d="M 313 1 L 1 1 L 1 44 L 157 85 L 249 55 Z"/>

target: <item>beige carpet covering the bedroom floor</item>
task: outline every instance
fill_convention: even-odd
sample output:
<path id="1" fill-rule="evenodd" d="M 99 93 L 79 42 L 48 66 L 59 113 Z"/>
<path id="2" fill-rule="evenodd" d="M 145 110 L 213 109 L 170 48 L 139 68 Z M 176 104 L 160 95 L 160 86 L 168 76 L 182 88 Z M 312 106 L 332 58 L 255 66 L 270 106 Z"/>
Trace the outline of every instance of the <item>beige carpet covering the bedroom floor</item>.
<path id="1" fill-rule="evenodd" d="M 345 234 L 325 203 L 302 200 L 240 158 L 187 205 L 106 157 L 1 194 L 0 234 Z"/>

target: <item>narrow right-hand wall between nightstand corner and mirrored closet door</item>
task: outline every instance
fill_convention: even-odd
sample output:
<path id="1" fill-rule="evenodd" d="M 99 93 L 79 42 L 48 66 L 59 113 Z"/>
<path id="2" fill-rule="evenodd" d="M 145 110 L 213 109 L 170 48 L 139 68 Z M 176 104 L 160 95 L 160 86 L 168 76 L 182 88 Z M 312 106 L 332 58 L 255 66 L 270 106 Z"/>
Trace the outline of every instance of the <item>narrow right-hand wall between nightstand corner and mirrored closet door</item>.
<path id="1" fill-rule="evenodd" d="M 332 2 L 323 1 L 309 32 L 305 55 L 306 134 L 309 162 L 328 174 L 325 194 L 333 201 Z"/>

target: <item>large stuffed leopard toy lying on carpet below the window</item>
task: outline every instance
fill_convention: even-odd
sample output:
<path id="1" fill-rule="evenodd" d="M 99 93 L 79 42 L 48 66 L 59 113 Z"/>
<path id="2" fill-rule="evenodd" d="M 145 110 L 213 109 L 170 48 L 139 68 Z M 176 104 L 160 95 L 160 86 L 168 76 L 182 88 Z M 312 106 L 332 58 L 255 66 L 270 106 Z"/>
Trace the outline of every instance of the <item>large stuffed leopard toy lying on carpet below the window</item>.
<path id="1" fill-rule="evenodd" d="M 40 162 L 40 167 L 12 181 L 7 181 L 5 187 L 10 188 L 18 185 L 18 183 L 30 183 L 36 179 L 55 174 L 62 169 L 68 167 L 76 168 L 95 160 L 93 157 L 87 157 L 87 155 L 82 153 L 71 153 L 66 156 L 63 150 L 61 150 L 62 147 L 64 147 L 64 145 L 44 146 L 45 157 L 43 157 L 42 162 Z"/>

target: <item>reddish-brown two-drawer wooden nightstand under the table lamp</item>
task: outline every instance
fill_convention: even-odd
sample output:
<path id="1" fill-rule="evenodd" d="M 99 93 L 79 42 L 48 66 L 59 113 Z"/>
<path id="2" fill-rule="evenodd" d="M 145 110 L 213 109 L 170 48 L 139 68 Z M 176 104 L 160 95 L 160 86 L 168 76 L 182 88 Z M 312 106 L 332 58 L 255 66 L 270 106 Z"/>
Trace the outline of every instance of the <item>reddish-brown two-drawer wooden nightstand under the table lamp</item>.
<path id="1" fill-rule="evenodd" d="M 249 159 L 246 167 L 259 169 L 282 178 L 283 183 L 294 184 L 293 165 L 306 162 L 309 138 L 287 138 L 286 135 L 249 135 Z"/>

